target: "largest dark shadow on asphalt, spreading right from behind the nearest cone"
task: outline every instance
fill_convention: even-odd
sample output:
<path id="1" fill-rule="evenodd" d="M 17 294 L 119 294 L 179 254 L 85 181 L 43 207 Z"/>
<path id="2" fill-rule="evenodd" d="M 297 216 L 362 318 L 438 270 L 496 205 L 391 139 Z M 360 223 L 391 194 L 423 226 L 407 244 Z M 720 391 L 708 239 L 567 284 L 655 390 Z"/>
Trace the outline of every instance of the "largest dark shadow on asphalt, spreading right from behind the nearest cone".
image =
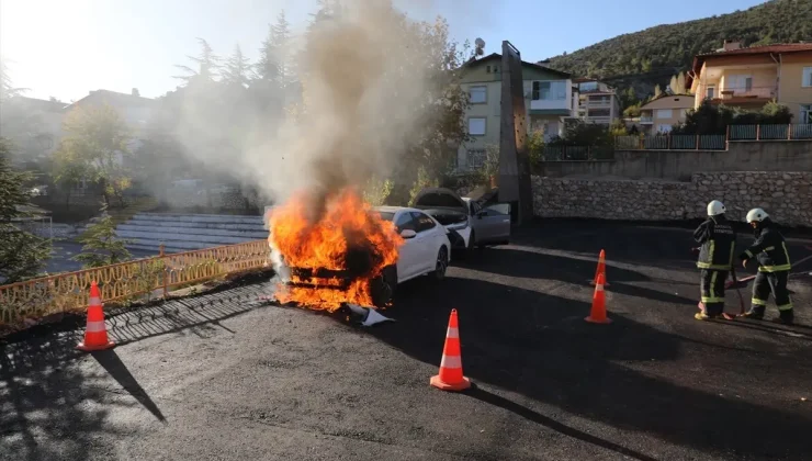
<path id="1" fill-rule="evenodd" d="M 512 266 L 511 258 L 501 262 Z M 505 269 L 508 270 L 508 269 Z M 560 296 L 483 280 L 448 278 L 437 297 L 427 301 L 416 280 L 398 292 L 387 310 L 397 327 L 370 334 L 425 363 L 437 366 L 451 308 L 460 315 L 465 374 L 472 380 L 555 405 L 587 419 L 630 431 L 647 432 L 679 446 L 728 457 L 807 459 L 808 441 L 798 429 L 812 419 L 755 402 L 701 391 L 697 380 L 654 376 L 630 362 L 676 361 L 683 337 L 631 318 L 611 315 L 610 326 L 584 322 L 589 305 Z M 418 340 L 419 338 L 419 340 Z M 665 370 L 675 370 L 666 368 Z M 483 401 L 510 409 L 561 434 L 619 453 L 651 459 L 583 432 L 504 398 L 478 394 Z"/>

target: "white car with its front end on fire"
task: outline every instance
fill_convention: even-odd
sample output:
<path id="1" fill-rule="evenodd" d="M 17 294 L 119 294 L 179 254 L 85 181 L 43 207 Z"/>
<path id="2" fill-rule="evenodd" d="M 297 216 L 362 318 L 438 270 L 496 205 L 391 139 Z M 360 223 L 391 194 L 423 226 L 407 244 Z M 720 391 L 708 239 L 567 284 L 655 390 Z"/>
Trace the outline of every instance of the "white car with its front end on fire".
<path id="1" fill-rule="evenodd" d="M 446 270 L 451 261 L 451 243 L 448 238 L 449 232 L 442 224 L 416 209 L 379 206 L 374 211 L 382 218 L 393 222 L 404 238 L 397 262 L 384 268 L 381 277 L 370 282 L 372 303 L 375 306 L 381 307 L 392 301 L 396 286 L 407 280 L 426 274 L 438 281 L 446 278 Z M 311 279 L 338 279 L 343 283 L 337 288 L 342 288 L 351 282 L 351 276 L 342 271 L 324 268 L 287 267 L 287 269 L 297 276 L 300 284 L 313 284 L 308 282 Z"/>

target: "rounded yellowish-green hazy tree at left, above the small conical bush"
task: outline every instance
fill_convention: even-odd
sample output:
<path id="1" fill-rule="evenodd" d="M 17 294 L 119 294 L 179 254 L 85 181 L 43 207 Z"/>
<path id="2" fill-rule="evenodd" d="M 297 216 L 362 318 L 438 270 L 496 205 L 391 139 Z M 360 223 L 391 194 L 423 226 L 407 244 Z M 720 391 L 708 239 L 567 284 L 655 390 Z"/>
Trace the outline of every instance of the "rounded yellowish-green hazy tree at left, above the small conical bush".
<path id="1" fill-rule="evenodd" d="M 124 206 L 123 192 L 131 187 L 129 171 L 124 167 L 131 136 L 119 112 L 106 104 L 79 106 L 65 117 L 63 131 L 65 137 L 54 154 L 61 169 L 55 176 L 75 179 L 78 169 L 101 187 L 105 204 L 112 195 Z"/>

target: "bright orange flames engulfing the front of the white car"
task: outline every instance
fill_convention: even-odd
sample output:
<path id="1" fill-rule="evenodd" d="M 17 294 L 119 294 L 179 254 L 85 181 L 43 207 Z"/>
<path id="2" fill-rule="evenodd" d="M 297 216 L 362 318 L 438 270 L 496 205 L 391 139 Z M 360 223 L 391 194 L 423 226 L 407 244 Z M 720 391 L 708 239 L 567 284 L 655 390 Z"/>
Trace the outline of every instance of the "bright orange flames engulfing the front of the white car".
<path id="1" fill-rule="evenodd" d="M 384 221 L 354 189 L 329 195 L 315 223 L 307 218 L 308 199 L 307 193 L 296 194 L 270 212 L 268 240 L 287 268 L 346 271 L 349 285 L 336 277 L 292 274 L 290 282 L 308 286 L 282 284 L 277 300 L 329 312 L 342 303 L 373 306 L 370 282 L 397 261 L 403 245 L 394 223 Z"/>

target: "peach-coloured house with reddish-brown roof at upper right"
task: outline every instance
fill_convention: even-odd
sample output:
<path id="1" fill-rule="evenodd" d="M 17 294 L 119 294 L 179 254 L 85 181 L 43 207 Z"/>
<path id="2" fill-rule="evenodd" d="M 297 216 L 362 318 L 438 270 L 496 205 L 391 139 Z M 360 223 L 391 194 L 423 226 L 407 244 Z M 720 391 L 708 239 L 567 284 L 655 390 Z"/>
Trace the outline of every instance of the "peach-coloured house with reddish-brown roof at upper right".
<path id="1" fill-rule="evenodd" d="M 812 123 L 812 43 L 743 48 L 724 42 L 717 52 L 693 58 L 686 89 L 695 108 L 710 100 L 758 110 L 776 100 L 789 106 L 794 123 Z"/>

